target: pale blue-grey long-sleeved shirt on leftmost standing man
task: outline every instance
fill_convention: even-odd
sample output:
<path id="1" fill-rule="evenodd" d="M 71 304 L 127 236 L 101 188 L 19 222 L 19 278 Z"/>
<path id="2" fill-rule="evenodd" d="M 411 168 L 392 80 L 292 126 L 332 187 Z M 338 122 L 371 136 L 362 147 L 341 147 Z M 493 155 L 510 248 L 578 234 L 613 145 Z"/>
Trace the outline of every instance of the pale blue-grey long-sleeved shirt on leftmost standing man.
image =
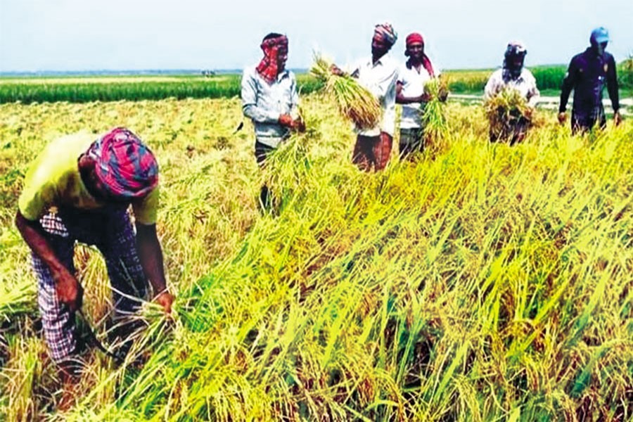
<path id="1" fill-rule="evenodd" d="M 276 147 L 289 132 L 279 124 L 279 116 L 297 116 L 299 95 L 295 74 L 284 70 L 272 84 L 257 73 L 256 66 L 246 68 L 242 75 L 242 110 L 255 124 L 257 141 Z"/>

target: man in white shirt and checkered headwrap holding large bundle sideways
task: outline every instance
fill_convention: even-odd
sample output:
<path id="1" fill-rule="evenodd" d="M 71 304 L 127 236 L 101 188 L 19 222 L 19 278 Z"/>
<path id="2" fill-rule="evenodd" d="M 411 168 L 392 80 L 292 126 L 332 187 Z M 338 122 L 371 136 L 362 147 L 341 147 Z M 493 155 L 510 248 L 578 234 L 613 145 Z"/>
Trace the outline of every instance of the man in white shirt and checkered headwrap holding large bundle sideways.
<path id="1" fill-rule="evenodd" d="M 350 76 L 378 98 L 383 109 L 383 119 L 371 129 L 356 128 L 357 139 L 352 162 L 361 170 L 371 167 L 383 170 L 389 161 L 395 131 L 395 96 L 398 78 L 397 63 L 388 56 L 397 33 L 389 23 L 376 25 L 371 39 L 371 56 L 359 60 L 352 67 Z M 337 66 L 332 67 L 335 75 L 344 75 Z"/>

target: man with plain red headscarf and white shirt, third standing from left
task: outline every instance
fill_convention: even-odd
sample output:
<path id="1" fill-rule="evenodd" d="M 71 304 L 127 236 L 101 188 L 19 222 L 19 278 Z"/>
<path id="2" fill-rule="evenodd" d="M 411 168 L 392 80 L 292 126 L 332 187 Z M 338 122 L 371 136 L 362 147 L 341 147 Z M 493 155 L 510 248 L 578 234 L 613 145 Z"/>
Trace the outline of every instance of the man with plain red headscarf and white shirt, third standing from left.
<path id="1" fill-rule="evenodd" d="M 402 158 L 423 151 L 422 112 L 424 105 L 430 100 L 430 96 L 424 91 L 424 85 L 433 77 L 439 76 L 424 53 L 424 39 L 421 34 L 413 32 L 407 35 L 404 56 L 409 57 L 409 60 L 399 69 L 396 84 L 396 103 L 402 104 L 399 141 Z M 440 101 L 446 101 L 446 96 L 440 98 Z"/>

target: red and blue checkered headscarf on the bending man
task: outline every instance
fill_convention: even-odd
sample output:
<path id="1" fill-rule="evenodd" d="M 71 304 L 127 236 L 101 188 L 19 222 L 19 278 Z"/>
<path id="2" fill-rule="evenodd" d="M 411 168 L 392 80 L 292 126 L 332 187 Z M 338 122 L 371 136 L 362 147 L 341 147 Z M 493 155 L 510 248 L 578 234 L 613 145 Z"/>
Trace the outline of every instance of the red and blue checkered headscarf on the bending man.
<path id="1" fill-rule="evenodd" d="M 158 163 L 150 149 L 129 129 L 116 127 L 88 148 L 94 170 L 108 193 L 141 198 L 158 185 Z"/>

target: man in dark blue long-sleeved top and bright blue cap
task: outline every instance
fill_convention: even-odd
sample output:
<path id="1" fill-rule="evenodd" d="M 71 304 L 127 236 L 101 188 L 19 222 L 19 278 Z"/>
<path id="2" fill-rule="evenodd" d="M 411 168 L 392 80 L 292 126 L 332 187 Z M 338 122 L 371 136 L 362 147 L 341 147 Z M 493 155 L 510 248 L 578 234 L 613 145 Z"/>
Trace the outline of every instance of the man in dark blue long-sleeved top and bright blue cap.
<path id="1" fill-rule="evenodd" d="M 567 120 L 565 109 L 569 94 L 573 89 L 571 125 L 574 134 L 591 130 L 596 122 L 599 123 L 601 129 L 606 127 L 606 117 L 602 106 L 605 83 L 613 107 L 613 122 L 618 125 L 622 121 L 618 98 L 618 75 L 615 70 L 615 59 L 606 52 L 608 41 L 609 33 L 605 28 L 599 27 L 593 30 L 589 37 L 590 46 L 572 58 L 563 79 L 558 122 L 563 124 Z"/>

